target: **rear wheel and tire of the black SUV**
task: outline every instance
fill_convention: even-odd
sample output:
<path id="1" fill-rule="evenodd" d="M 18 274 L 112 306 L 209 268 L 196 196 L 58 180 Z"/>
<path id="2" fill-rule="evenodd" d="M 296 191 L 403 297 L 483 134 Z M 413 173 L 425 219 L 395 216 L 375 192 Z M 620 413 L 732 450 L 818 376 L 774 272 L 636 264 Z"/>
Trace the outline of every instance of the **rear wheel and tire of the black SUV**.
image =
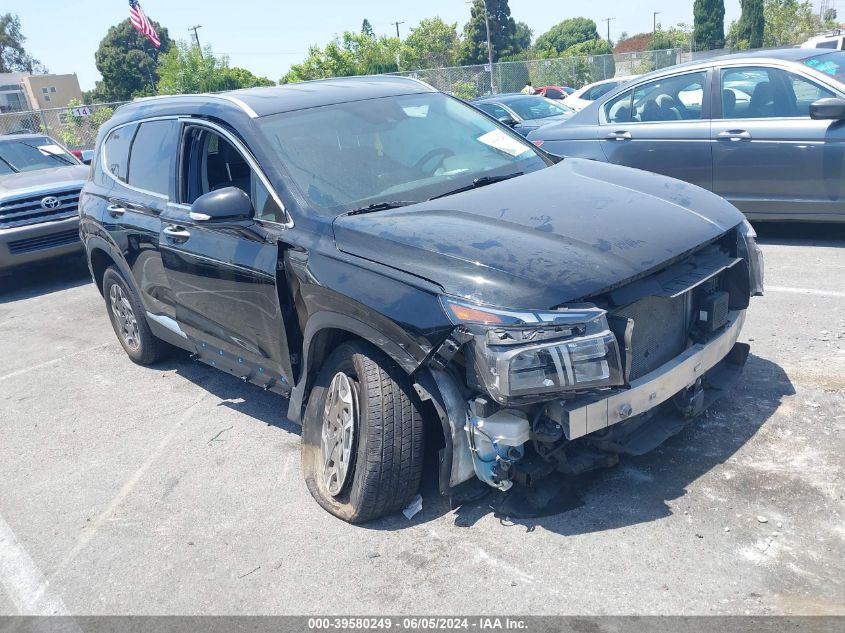
<path id="1" fill-rule="evenodd" d="M 172 348 L 150 331 L 138 295 L 114 266 L 103 275 L 103 297 L 117 340 L 133 362 L 152 365 L 167 357 Z"/>

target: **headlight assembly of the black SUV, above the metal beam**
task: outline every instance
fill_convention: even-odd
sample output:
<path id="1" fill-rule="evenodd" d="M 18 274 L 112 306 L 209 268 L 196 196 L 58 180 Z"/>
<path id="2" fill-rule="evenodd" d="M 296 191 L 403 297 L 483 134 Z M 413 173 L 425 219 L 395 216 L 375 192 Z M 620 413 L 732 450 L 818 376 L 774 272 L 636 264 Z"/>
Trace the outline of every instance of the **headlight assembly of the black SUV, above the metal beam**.
<path id="1" fill-rule="evenodd" d="M 449 298 L 443 306 L 473 335 L 470 382 L 500 404 L 623 384 L 619 346 L 604 310 L 501 310 Z"/>

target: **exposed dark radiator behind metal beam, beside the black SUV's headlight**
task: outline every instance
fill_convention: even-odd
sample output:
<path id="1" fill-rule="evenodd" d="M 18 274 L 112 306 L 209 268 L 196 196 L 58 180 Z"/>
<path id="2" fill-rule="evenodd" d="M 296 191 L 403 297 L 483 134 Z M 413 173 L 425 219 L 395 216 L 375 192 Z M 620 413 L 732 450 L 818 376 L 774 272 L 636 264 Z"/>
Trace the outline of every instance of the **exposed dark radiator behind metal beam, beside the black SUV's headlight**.
<path id="1" fill-rule="evenodd" d="M 634 321 L 631 337 L 631 380 L 668 363 L 687 347 L 689 293 L 679 297 L 645 297 L 615 311 Z"/>

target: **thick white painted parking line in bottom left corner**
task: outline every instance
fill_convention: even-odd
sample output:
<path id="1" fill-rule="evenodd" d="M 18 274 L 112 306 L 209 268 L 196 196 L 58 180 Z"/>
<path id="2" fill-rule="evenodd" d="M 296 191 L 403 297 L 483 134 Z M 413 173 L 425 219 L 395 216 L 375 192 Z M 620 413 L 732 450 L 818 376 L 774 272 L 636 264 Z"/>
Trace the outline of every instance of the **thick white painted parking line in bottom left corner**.
<path id="1" fill-rule="evenodd" d="M 19 615 L 70 615 L 49 582 L 0 516 L 0 585 Z"/>

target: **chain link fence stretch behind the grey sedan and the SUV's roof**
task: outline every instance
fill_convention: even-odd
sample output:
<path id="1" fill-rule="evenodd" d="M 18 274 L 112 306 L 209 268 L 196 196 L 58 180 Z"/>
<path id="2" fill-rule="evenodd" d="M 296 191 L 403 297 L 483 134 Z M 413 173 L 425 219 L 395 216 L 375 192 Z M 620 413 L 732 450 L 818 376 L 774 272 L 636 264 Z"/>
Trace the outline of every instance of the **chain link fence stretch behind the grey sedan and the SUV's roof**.
<path id="1" fill-rule="evenodd" d="M 420 79 L 438 90 L 462 99 L 474 99 L 490 94 L 519 92 L 529 81 L 535 87 L 568 86 L 578 89 L 604 79 L 642 75 L 675 64 L 731 52 L 734 51 L 722 49 L 689 52 L 673 48 L 639 53 L 499 62 L 492 66 L 479 64 L 429 68 L 393 74 Z"/>

